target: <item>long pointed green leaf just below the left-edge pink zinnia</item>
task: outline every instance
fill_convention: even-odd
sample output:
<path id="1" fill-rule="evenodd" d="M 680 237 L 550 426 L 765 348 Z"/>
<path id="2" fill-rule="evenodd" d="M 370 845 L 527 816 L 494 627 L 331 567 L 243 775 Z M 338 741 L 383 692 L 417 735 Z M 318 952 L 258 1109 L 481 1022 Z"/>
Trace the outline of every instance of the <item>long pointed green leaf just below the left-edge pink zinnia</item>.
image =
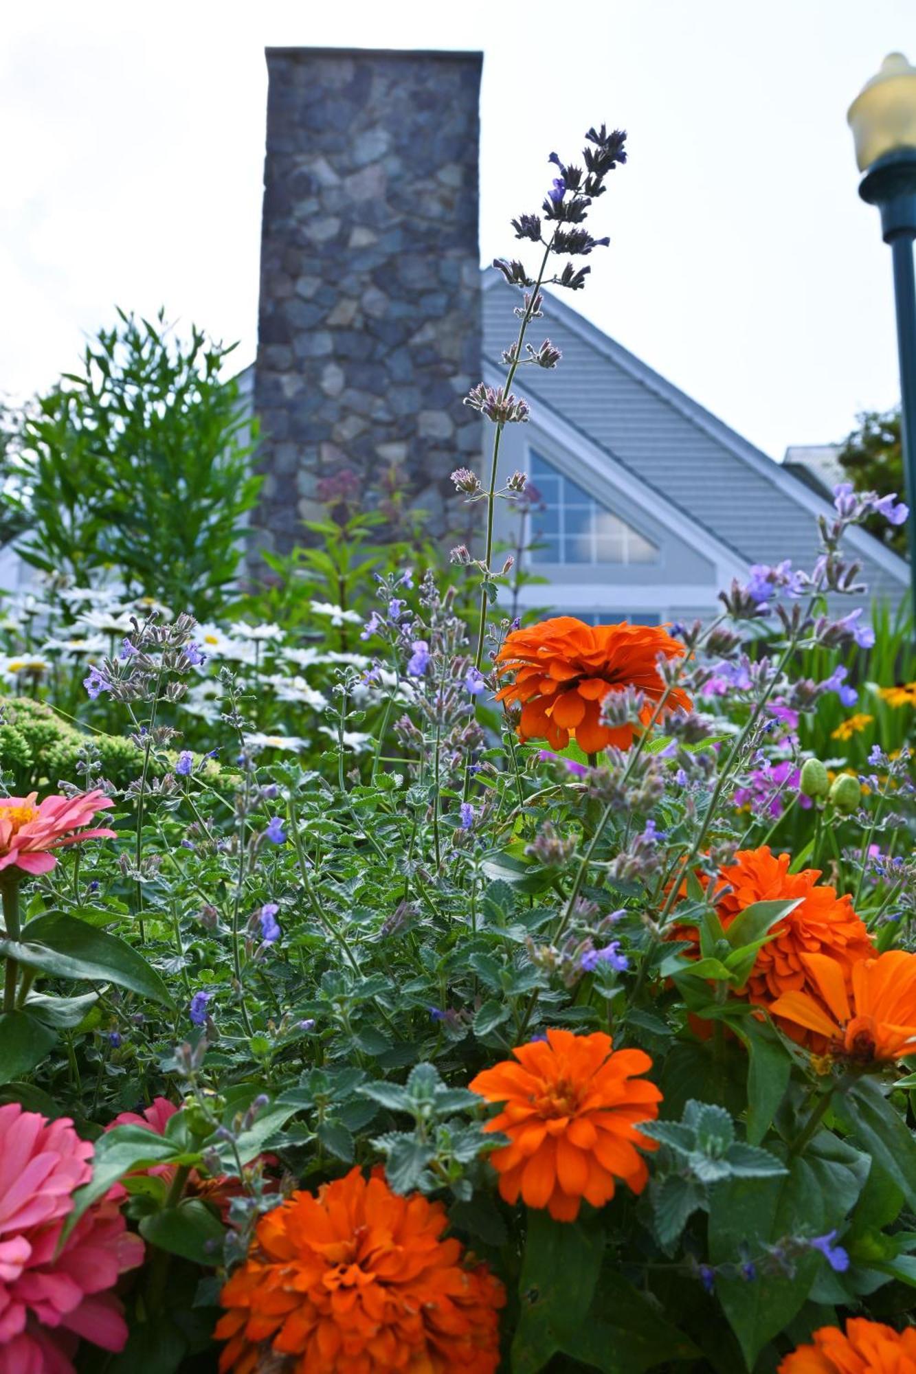
<path id="1" fill-rule="evenodd" d="M 25 940 L 0 940 L 0 954 L 59 978 L 117 982 L 153 1002 L 175 1006 L 155 969 L 120 936 L 56 912 L 30 921 L 23 934 Z"/>

